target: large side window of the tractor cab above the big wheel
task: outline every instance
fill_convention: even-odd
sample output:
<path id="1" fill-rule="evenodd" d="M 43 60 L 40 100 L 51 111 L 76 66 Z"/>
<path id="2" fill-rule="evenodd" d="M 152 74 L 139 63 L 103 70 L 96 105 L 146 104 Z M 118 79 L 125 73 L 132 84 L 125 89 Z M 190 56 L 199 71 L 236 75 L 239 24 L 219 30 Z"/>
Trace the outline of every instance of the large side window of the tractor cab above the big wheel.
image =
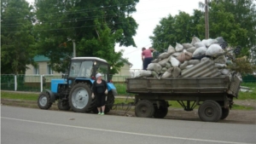
<path id="1" fill-rule="evenodd" d="M 69 77 L 90 78 L 92 76 L 92 61 L 73 61 Z"/>

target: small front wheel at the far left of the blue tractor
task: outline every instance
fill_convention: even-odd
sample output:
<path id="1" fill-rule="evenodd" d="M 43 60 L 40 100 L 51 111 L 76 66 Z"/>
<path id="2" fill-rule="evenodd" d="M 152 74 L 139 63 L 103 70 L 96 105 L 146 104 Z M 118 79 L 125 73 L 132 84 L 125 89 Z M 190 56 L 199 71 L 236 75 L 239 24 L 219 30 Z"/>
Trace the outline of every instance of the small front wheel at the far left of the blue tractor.
<path id="1" fill-rule="evenodd" d="M 51 107 L 52 102 L 50 102 L 50 97 L 47 92 L 42 92 L 38 96 L 38 107 L 47 110 Z"/>

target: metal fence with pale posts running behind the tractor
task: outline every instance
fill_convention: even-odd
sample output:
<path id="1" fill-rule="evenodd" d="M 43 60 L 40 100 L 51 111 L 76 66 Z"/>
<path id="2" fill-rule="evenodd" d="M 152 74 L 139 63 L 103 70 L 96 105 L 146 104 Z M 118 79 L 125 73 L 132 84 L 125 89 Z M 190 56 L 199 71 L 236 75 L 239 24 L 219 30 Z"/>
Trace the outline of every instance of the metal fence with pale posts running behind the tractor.
<path id="1" fill-rule="evenodd" d="M 45 78 L 45 84 L 43 77 Z M 124 83 L 129 76 L 111 76 L 113 83 Z M 17 91 L 43 91 L 50 89 L 51 79 L 60 79 L 61 75 L 1 75 L 1 89 Z"/>

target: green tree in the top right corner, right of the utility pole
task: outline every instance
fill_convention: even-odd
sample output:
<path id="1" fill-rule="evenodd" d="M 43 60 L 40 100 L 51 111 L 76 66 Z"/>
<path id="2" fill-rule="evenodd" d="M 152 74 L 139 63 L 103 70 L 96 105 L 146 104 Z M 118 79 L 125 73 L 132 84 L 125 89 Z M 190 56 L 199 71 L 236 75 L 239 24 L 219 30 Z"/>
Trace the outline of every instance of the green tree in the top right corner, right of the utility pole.
<path id="1" fill-rule="evenodd" d="M 256 64 L 256 3 L 253 0 L 213 0 L 217 7 L 222 7 L 225 12 L 233 14 L 234 22 L 247 31 L 246 37 L 241 37 L 238 45 L 243 49 L 241 55 L 247 55 Z M 210 3 L 210 4 L 212 4 Z"/>

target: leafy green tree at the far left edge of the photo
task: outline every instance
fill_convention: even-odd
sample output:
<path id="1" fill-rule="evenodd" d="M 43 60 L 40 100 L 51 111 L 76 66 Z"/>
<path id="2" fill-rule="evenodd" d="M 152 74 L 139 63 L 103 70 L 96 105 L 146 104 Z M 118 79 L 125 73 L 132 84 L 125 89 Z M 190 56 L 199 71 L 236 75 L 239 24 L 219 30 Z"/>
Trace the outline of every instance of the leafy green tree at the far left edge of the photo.
<path id="1" fill-rule="evenodd" d="M 32 7 L 26 0 L 3 0 L 1 4 L 1 72 L 25 74 L 36 53 Z"/>

